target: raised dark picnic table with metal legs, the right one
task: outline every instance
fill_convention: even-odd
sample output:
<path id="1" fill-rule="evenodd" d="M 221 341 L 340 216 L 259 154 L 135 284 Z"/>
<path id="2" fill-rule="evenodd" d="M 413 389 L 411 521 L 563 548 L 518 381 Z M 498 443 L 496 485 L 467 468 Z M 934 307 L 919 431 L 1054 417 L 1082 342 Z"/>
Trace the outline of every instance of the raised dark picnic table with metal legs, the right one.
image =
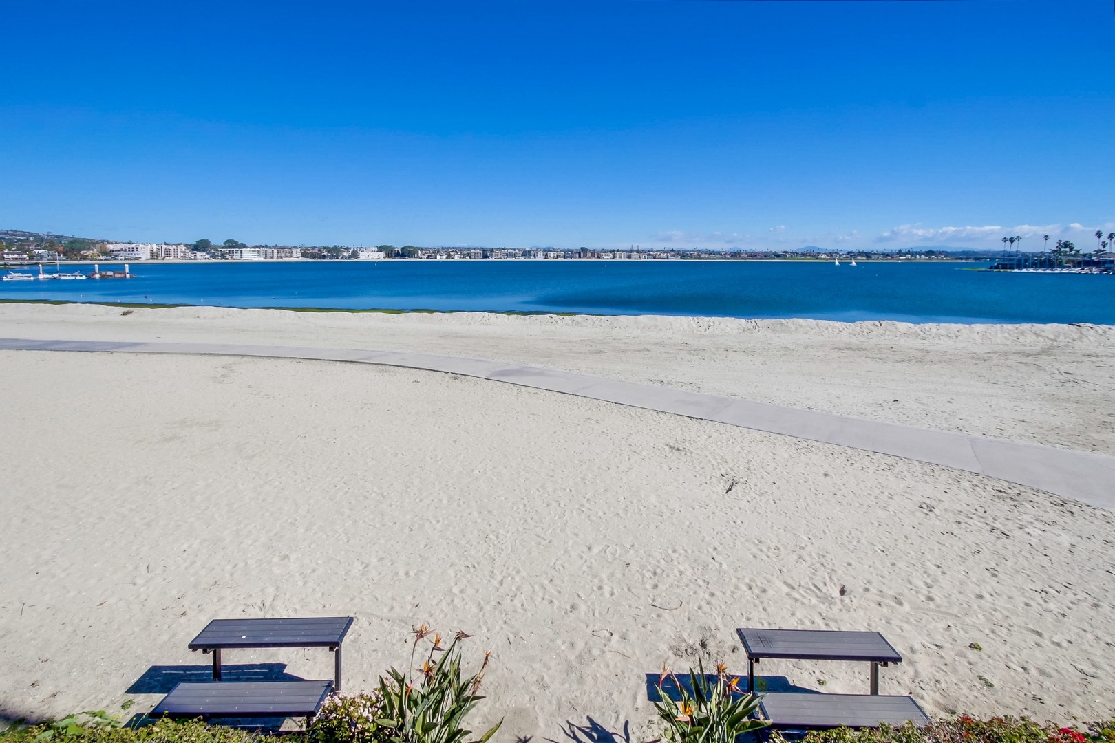
<path id="1" fill-rule="evenodd" d="M 901 663 L 878 632 L 831 629 L 736 629 L 747 652 L 747 691 L 755 691 L 755 664 L 760 658 L 862 661 L 871 663 L 871 694 L 879 695 L 879 666 Z"/>

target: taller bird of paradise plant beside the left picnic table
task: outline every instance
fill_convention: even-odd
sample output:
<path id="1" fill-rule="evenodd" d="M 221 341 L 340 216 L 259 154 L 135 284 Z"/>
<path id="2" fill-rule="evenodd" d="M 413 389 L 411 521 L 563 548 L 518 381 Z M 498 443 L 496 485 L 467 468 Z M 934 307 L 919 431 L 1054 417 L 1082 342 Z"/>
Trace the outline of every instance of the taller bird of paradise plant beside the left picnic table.
<path id="1" fill-rule="evenodd" d="M 423 624 L 414 629 L 414 636 L 408 671 L 403 673 L 392 667 L 386 677 L 379 677 L 382 717 L 376 724 L 387 730 L 392 743 L 465 743 L 473 734 L 465 729 L 465 718 L 484 698 L 477 692 L 492 654 L 484 654 L 479 671 L 462 677 L 457 644 L 471 635 L 458 632 L 448 647 L 442 647 L 442 635 Z M 416 668 L 418 646 L 427 638 L 429 647 Z M 502 724 L 501 720 L 471 743 L 486 743 Z"/>

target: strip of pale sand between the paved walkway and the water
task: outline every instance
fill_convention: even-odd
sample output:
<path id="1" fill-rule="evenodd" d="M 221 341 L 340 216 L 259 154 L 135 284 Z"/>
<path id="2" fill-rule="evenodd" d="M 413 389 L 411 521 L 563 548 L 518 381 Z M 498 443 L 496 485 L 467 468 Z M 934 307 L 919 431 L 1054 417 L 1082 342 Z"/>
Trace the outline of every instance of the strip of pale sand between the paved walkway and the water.
<path id="1" fill-rule="evenodd" d="M 1115 454 L 1115 326 L 0 305 L 0 336 L 462 355 Z"/>

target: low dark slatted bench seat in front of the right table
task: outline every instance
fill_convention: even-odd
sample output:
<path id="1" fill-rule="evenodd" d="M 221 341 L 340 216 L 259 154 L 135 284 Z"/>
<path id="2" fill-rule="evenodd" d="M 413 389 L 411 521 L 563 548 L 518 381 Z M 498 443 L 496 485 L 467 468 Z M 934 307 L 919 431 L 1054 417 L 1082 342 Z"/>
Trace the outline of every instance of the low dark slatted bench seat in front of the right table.
<path id="1" fill-rule="evenodd" d="M 759 714 L 777 730 L 899 726 L 906 721 L 922 727 L 929 723 L 929 715 L 911 697 L 878 694 L 764 694 Z"/>

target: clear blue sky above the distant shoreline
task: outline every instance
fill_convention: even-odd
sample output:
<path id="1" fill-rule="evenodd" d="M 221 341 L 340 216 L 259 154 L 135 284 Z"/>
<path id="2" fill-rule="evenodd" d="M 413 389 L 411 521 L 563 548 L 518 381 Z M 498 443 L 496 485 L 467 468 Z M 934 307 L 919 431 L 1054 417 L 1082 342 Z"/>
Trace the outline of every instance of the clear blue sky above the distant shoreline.
<path id="1" fill-rule="evenodd" d="M 0 228 L 755 248 L 1115 229 L 1111 0 L 6 0 L 0 27 Z"/>

